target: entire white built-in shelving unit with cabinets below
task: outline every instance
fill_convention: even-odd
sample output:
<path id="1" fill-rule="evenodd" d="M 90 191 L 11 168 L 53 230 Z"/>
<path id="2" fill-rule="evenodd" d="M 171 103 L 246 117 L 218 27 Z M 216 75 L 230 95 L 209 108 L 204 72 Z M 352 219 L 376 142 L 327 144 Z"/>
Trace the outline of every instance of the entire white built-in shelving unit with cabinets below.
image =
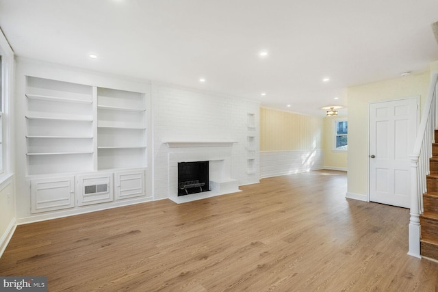
<path id="1" fill-rule="evenodd" d="M 146 94 L 27 76 L 25 98 L 31 213 L 145 196 Z"/>

